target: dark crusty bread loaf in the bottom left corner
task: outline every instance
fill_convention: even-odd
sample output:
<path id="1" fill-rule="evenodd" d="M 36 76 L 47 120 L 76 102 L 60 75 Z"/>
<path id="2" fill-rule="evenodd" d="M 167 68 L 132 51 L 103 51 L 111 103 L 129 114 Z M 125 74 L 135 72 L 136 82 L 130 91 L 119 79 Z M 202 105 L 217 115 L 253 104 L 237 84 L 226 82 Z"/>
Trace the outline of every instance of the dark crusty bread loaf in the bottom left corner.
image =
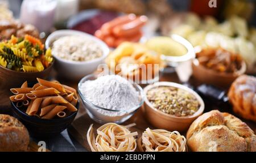
<path id="1" fill-rule="evenodd" d="M 0 152 L 27 151 L 30 136 L 18 119 L 0 114 Z"/>

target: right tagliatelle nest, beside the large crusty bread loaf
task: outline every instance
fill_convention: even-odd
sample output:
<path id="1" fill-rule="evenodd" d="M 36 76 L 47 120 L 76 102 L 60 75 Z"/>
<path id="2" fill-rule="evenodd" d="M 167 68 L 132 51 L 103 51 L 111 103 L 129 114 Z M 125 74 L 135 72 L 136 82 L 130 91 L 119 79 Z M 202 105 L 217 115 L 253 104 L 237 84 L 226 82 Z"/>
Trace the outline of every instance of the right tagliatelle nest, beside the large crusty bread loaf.
<path id="1" fill-rule="evenodd" d="M 186 152 L 186 139 L 179 132 L 147 128 L 138 140 L 141 152 Z"/>

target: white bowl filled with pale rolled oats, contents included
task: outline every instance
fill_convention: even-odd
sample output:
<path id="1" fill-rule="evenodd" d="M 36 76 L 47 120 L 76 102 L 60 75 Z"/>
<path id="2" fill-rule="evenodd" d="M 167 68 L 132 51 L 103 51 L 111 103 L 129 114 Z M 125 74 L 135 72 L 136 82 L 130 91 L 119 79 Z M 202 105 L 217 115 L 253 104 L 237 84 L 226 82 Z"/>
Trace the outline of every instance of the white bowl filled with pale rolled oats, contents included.
<path id="1" fill-rule="evenodd" d="M 51 33 L 46 48 L 51 48 L 58 74 L 69 80 L 92 74 L 109 54 L 108 46 L 97 37 L 67 29 Z"/>

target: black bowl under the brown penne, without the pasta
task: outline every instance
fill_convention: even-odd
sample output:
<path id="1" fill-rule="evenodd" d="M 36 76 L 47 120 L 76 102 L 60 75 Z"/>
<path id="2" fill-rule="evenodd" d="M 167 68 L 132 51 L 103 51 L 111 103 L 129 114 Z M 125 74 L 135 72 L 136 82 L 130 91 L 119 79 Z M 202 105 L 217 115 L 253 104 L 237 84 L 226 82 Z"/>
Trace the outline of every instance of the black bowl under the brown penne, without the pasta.
<path id="1" fill-rule="evenodd" d="M 34 83 L 28 83 L 31 86 Z M 76 108 L 79 109 L 79 101 L 77 101 Z M 39 117 L 30 116 L 25 113 L 26 108 L 17 108 L 16 102 L 11 101 L 11 110 L 15 118 L 19 119 L 24 126 L 27 127 L 31 136 L 51 137 L 60 134 L 65 130 L 76 117 L 77 111 L 71 113 L 67 117 L 58 119 L 41 119 Z"/>

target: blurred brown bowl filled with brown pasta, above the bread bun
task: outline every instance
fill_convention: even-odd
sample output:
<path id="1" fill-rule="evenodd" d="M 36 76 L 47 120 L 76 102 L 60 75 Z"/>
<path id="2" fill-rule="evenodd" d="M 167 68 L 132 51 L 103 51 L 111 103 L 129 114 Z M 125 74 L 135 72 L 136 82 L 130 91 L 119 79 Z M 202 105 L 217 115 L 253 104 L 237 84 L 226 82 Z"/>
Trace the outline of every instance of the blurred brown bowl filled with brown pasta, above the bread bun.
<path id="1" fill-rule="evenodd" d="M 198 83 L 227 89 L 238 76 L 246 72 L 246 63 L 240 55 L 228 50 L 205 48 L 196 53 L 192 70 L 193 78 Z"/>

